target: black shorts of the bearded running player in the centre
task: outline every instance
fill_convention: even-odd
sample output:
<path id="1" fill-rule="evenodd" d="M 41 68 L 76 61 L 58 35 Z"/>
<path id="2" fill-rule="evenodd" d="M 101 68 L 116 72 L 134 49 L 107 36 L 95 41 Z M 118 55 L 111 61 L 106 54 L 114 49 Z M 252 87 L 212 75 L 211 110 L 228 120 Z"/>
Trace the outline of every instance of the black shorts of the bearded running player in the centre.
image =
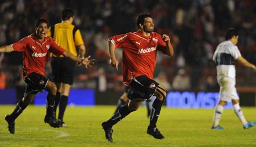
<path id="1" fill-rule="evenodd" d="M 141 75 L 133 78 L 127 93 L 128 99 L 147 100 L 155 93 L 157 86 L 159 86 L 159 83 L 147 78 L 147 76 Z"/>

